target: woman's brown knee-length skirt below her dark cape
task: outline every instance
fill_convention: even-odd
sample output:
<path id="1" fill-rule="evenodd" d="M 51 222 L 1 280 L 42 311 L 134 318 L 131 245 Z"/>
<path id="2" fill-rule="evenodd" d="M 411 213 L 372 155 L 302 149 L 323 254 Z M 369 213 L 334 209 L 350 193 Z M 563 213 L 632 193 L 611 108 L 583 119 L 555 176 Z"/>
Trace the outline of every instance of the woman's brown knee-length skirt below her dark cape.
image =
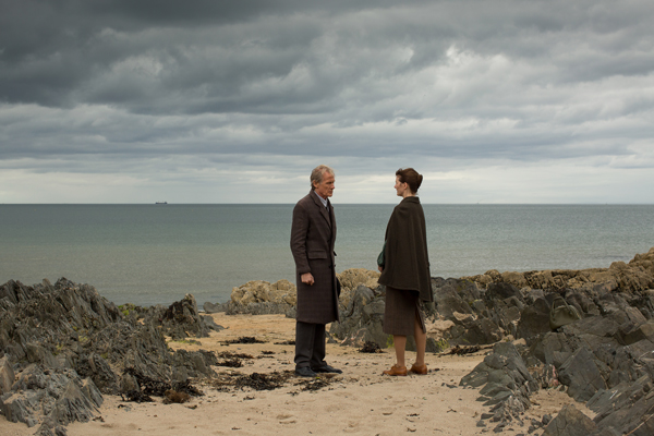
<path id="1" fill-rule="evenodd" d="M 423 331 L 425 316 L 420 308 L 417 292 L 386 287 L 386 310 L 384 311 L 384 332 L 387 335 L 413 335 L 417 317 Z"/>

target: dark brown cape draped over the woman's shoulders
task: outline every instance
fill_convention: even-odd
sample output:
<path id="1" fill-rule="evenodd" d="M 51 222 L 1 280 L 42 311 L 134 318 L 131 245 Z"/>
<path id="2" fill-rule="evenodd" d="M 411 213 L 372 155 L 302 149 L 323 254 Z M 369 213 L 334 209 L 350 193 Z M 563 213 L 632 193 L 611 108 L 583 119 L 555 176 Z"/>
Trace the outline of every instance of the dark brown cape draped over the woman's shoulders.
<path id="1" fill-rule="evenodd" d="M 403 198 L 392 210 L 384 257 L 379 284 L 417 291 L 422 301 L 434 301 L 425 214 L 417 197 Z"/>

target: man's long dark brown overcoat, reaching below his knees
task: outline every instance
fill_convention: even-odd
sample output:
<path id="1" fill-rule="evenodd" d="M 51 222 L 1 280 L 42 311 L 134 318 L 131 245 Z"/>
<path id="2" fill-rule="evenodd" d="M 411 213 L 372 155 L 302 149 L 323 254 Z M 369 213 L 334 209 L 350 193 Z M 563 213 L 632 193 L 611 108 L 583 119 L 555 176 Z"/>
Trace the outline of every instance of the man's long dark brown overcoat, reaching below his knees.
<path id="1" fill-rule="evenodd" d="M 336 217 L 327 202 L 329 213 L 313 191 L 300 199 L 293 209 L 291 252 L 295 261 L 298 283 L 296 320 L 328 324 L 338 320 L 338 295 L 334 243 Z M 301 276 L 311 272 L 313 286 L 305 284 Z"/>

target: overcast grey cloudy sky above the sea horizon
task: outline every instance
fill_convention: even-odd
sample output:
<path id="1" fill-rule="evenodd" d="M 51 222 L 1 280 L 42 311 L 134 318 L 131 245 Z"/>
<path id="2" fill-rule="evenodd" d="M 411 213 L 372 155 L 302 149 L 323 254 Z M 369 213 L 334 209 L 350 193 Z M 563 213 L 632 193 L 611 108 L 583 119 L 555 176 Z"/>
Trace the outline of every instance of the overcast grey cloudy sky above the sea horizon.
<path id="1" fill-rule="evenodd" d="M 654 204 L 651 0 L 0 0 L 0 204 Z"/>

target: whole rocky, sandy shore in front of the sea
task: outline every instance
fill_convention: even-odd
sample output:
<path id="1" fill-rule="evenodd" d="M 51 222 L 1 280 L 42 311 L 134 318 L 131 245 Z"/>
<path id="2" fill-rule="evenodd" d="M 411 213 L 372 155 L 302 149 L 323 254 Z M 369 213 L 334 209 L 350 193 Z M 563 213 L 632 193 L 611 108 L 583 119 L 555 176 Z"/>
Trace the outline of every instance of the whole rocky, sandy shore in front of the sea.
<path id="1" fill-rule="evenodd" d="M 356 268 L 340 275 L 344 316 L 328 326 L 327 360 L 343 374 L 315 379 L 292 371 L 288 281 L 245 283 L 206 315 L 190 294 L 169 307 L 117 307 L 63 278 L 4 283 L 0 428 L 40 436 L 282 428 L 561 436 L 600 435 L 606 425 L 640 436 L 654 428 L 646 413 L 654 408 L 646 395 L 654 247 L 609 268 L 432 278 L 425 376 L 382 375 L 395 356 L 380 331 L 377 277 Z M 576 316 L 553 325 L 556 299 Z M 362 352 L 368 343 L 382 352 Z M 444 416 L 456 417 L 443 425 Z"/>

